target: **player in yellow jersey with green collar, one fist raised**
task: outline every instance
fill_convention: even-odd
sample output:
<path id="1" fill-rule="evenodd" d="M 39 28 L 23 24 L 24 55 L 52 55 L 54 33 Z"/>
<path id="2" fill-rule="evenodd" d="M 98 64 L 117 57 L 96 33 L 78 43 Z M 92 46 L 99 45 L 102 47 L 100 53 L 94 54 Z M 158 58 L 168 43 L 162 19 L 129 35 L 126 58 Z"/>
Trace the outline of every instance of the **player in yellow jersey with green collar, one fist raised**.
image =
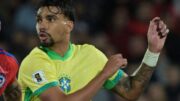
<path id="1" fill-rule="evenodd" d="M 158 17 L 150 21 L 147 52 L 130 76 L 121 70 L 127 65 L 121 54 L 107 59 L 93 45 L 71 43 L 74 20 L 70 0 L 43 0 L 38 6 L 36 29 L 41 44 L 20 66 L 23 101 L 90 101 L 102 87 L 136 100 L 156 67 L 169 31 L 166 24 Z"/>

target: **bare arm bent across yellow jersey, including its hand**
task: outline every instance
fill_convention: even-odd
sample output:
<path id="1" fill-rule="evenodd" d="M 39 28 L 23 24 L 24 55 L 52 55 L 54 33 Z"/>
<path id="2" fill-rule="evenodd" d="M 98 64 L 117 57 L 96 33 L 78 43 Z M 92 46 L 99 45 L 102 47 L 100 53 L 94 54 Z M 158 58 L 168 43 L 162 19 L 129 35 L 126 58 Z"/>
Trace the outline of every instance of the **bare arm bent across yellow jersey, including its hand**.
<path id="1" fill-rule="evenodd" d="M 106 63 L 104 70 L 99 73 L 88 85 L 79 91 L 65 95 L 59 87 L 52 87 L 40 94 L 41 101 L 90 101 L 102 88 L 104 82 L 111 77 L 119 67 L 127 64 L 127 60 L 120 54 L 112 56 Z"/>

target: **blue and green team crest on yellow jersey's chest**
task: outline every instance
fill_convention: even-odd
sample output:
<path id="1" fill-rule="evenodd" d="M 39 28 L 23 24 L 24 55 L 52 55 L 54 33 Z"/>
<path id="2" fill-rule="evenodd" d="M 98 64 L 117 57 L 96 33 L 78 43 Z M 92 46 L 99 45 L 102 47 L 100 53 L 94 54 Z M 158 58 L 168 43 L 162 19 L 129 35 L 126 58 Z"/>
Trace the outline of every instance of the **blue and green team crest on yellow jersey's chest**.
<path id="1" fill-rule="evenodd" d="M 64 76 L 59 79 L 60 87 L 65 93 L 71 91 L 71 80 L 69 77 Z"/>

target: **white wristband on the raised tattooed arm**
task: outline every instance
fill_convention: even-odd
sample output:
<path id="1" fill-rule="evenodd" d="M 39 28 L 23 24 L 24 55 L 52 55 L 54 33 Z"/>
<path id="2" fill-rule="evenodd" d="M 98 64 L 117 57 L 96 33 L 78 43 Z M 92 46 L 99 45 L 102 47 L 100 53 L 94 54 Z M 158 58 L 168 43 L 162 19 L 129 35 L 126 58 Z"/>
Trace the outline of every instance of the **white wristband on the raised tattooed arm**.
<path id="1" fill-rule="evenodd" d="M 150 67 L 155 67 L 157 65 L 159 55 L 160 53 L 153 53 L 150 52 L 149 49 L 147 49 L 143 58 L 143 63 Z"/>

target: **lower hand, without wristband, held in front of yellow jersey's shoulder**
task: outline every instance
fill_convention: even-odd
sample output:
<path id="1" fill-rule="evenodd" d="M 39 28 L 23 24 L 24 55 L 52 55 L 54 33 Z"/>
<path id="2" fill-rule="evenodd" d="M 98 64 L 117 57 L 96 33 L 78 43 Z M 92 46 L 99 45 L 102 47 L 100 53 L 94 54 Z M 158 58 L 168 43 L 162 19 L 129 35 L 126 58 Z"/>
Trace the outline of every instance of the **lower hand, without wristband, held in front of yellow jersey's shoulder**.
<path id="1" fill-rule="evenodd" d="M 121 54 L 113 55 L 106 63 L 103 73 L 106 78 L 111 77 L 119 68 L 123 68 L 127 65 L 127 59 L 123 58 Z"/>

